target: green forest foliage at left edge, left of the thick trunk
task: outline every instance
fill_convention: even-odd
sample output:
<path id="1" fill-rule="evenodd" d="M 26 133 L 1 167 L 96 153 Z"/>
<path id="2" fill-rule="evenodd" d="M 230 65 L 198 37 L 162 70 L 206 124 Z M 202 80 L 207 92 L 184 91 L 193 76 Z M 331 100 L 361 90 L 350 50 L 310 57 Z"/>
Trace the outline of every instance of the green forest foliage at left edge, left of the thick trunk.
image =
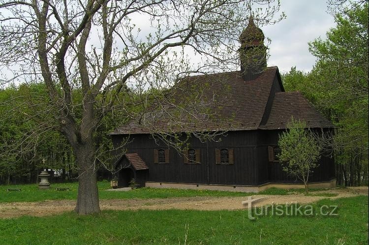
<path id="1" fill-rule="evenodd" d="M 48 102 L 42 84 L 0 91 L 0 180 L 26 178 L 36 168 L 66 168 L 71 149 L 60 132 L 51 130 L 54 118 Z"/>

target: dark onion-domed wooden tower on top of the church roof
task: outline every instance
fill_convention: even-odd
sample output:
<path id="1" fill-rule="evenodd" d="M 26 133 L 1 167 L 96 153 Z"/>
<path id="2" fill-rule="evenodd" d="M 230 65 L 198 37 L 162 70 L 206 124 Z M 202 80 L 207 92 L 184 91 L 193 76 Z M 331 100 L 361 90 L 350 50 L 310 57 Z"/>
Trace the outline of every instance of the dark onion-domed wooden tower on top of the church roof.
<path id="1" fill-rule="evenodd" d="M 245 81 L 256 79 L 267 67 L 267 48 L 264 45 L 264 38 L 263 31 L 256 27 L 251 15 L 247 27 L 239 38 L 241 47 L 238 51 Z"/>

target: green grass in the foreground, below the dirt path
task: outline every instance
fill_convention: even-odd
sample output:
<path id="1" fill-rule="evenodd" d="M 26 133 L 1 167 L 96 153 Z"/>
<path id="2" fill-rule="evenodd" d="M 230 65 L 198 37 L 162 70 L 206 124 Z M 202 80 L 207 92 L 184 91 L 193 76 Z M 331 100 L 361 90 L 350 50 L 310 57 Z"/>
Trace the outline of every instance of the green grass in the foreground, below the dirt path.
<path id="1" fill-rule="evenodd" d="M 261 216 L 247 211 L 104 211 L 0 219 L 1 244 L 368 244 L 368 196 L 324 199 L 337 216 Z"/>

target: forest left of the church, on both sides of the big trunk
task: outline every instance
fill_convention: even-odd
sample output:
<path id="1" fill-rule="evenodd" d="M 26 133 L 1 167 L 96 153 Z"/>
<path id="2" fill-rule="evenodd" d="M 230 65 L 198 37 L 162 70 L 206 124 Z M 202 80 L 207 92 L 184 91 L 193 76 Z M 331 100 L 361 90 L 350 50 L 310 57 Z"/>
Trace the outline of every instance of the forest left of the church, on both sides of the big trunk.
<path id="1" fill-rule="evenodd" d="M 78 95 L 74 94 L 75 101 Z M 0 90 L 0 184 L 36 183 L 42 169 L 55 170 L 54 182 L 78 180 L 73 149 L 61 132 L 50 130 L 38 118 L 48 118 L 48 107 L 44 84 L 12 84 Z M 117 122 L 124 122 L 119 116 L 107 114 L 94 132 L 98 179 L 113 176 L 113 147 L 106 133 L 117 127 Z"/>

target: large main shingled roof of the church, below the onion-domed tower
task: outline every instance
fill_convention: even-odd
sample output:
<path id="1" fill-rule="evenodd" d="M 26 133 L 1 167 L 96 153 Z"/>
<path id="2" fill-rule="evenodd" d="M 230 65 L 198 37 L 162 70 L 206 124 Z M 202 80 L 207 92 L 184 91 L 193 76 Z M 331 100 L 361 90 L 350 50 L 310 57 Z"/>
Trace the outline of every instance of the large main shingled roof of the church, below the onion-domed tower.
<path id="1" fill-rule="evenodd" d="M 191 117 L 176 122 L 156 111 L 144 120 L 132 120 L 110 134 L 138 134 L 155 132 L 193 132 L 258 129 L 269 98 L 277 66 L 268 67 L 254 80 L 245 81 L 241 71 L 191 76 L 176 89 L 177 100 L 191 93 L 191 85 L 205 88 L 204 103 L 197 105 Z M 168 109 L 167 109 L 168 111 Z M 208 111 L 208 114 L 202 113 Z M 209 116 L 210 115 L 210 116 Z"/>

